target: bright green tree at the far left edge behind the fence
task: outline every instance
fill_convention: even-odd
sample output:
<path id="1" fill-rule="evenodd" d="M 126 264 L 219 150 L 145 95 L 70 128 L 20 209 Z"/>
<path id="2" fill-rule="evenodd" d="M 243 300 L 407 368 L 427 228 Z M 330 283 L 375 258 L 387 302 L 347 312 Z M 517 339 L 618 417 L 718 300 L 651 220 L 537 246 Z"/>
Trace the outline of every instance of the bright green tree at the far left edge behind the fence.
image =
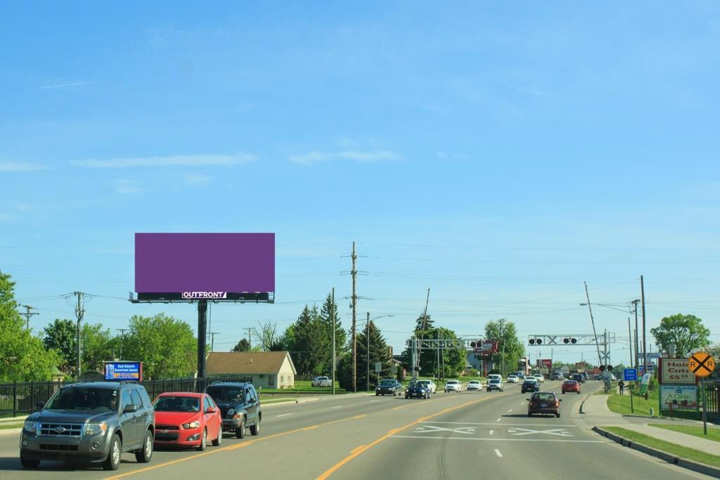
<path id="1" fill-rule="evenodd" d="M 60 363 L 56 350 L 45 350 L 17 312 L 15 284 L 0 272 L 0 382 L 47 381 Z"/>

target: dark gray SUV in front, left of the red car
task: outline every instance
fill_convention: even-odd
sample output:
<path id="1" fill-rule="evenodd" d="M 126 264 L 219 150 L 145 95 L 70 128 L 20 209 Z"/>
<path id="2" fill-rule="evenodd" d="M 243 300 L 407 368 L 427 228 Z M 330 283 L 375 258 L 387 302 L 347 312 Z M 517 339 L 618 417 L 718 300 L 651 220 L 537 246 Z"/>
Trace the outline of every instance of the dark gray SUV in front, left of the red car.
<path id="1" fill-rule="evenodd" d="M 122 452 L 140 463 L 153 456 L 155 410 L 143 386 L 130 382 L 89 382 L 63 386 L 20 435 L 20 462 L 36 468 L 42 460 L 102 463 L 117 470 Z"/>

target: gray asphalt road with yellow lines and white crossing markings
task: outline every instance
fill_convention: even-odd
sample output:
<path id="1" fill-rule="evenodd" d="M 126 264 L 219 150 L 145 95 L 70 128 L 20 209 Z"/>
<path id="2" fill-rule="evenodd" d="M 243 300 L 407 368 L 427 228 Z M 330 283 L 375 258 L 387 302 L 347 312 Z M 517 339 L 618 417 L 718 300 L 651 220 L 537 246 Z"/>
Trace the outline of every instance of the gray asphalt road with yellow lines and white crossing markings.
<path id="1" fill-rule="evenodd" d="M 559 391 L 559 382 L 543 389 Z M 222 446 L 202 453 L 156 450 L 146 464 L 126 453 L 116 472 L 54 462 L 24 470 L 18 435 L 0 435 L 0 478 L 709 478 L 591 432 L 577 415 L 581 395 L 561 396 L 559 418 L 528 417 L 527 397 L 510 384 L 502 393 L 438 392 L 428 400 L 348 395 L 275 406 L 265 409 L 257 437 L 225 434 Z"/>

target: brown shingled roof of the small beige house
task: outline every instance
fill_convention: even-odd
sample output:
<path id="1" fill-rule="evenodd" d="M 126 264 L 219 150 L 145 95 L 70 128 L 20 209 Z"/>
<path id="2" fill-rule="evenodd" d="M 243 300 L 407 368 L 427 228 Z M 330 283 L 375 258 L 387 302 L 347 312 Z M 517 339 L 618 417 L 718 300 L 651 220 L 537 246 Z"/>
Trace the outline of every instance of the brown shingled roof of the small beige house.
<path id="1" fill-rule="evenodd" d="M 212 352 L 208 354 L 205 371 L 210 375 L 220 373 L 279 373 L 285 358 L 290 362 L 292 373 L 297 374 L 287 351 L 282 352 Z"/>

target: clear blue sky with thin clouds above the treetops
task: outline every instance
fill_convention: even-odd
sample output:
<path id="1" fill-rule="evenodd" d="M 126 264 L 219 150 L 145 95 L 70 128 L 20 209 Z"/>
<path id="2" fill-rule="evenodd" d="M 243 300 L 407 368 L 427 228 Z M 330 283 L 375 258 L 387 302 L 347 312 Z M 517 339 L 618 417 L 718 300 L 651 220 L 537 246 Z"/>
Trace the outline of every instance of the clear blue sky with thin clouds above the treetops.
<path id="1" fill-rule="evenodd" d="M 334 286 L 400 350 L 422 312 L 463 335 L 598 328 L 629 356 L 703 318 L 720 341 L 720 6 L 433 2 L 0 5 L 0 270 L 40 315 L 112 329 L 134 232 L 276 232 L 274 305 L 216 305 L 216 350 Z M 117 299 L 107 297 L 118 297 Z M 624 310 L 618 311 L 617 309 Z M 545 357 L 549 352 L 540 351 Z M 567 361 L 593 348 L 556 349 Z M 530 350 L 536 358 L 537 349 Z"/>

